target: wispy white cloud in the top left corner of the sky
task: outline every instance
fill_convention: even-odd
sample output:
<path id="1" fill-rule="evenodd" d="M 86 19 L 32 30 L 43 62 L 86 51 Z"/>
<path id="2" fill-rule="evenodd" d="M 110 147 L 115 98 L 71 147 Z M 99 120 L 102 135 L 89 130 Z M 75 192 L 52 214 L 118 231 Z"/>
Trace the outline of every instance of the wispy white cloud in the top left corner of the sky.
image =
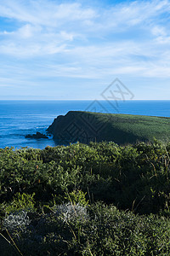
<path id="1" fill-rule="evenodd" d="M 57 4 L 53 1 L 1 0 L 0 16 L 40 26 L 60 26 L 67 20 L 90 20 L 94 9 L 82 8 L 79 3 Z"/>

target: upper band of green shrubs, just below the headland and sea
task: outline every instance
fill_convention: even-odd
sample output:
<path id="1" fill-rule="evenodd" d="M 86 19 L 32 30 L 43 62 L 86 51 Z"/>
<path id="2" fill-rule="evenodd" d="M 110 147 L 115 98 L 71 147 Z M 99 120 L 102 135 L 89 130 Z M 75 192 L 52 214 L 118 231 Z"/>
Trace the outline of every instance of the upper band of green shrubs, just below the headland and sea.
<path id="1" fill-rule="evenodd" d="M 53 196 L 56 204 L 68 197 L 67 201 L 82 205 L 87 200 L 105 201 L 133 212 L 168 212 L 169 143 L 77 143 L 43 150 L 0 151 L 0 202 L 9 207 L 5 212 L 12 206 L 17 209 L 17 200 L 39 208 L 53 201 Z M 28 204 L 32 204 L 31 198 L 26 199 L 33 193 L 34 206 Z"/>

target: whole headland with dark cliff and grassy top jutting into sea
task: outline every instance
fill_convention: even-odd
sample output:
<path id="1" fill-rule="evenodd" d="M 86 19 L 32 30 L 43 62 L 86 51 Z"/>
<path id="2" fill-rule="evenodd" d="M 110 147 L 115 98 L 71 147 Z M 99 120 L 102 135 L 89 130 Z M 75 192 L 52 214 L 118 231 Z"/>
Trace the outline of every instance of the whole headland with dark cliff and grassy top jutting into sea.
<path id="1" fill-rule="evenodd" d="M 70 111 L 59 115 L 48 132 L 60 143 L 113 141 L 118 144 L 170 139 L 170 119 L 130 114 Z"/>

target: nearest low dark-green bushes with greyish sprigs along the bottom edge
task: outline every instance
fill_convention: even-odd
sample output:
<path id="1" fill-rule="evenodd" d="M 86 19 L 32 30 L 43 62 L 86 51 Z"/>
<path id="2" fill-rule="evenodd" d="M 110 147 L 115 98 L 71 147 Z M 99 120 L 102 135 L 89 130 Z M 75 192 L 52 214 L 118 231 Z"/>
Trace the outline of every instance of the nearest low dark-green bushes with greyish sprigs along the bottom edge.
<path id="1" fill-rule="evenodd" d="M 26 225 L 26 230 L 11 231 L 11 235 L 26 256 L 170 253 L 169 219 L 121 212 L 103 203 L 88 208 L 76 205 L 74 211 L 71 203 L 62 205 L 56 212 L 41 215 L 36 223 Z M 1 255 L 17 253 L 10 247 Z"/>

